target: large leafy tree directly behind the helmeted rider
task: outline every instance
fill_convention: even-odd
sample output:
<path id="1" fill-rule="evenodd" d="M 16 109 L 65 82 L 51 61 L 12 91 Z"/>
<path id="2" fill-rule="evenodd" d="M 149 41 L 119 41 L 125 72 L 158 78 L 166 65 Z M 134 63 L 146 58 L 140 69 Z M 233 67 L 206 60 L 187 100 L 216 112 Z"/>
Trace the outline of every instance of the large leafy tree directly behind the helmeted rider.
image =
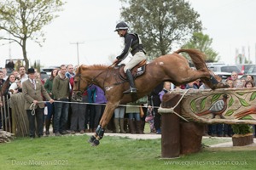
<path id="1" fill-rule="evenodd" d="M 172 50 L 194 31 L 201 31 L 199 14 L 184 0 L 120 0 L 121 18 L 137 32 L 148 56 L 157 57 Z"/>

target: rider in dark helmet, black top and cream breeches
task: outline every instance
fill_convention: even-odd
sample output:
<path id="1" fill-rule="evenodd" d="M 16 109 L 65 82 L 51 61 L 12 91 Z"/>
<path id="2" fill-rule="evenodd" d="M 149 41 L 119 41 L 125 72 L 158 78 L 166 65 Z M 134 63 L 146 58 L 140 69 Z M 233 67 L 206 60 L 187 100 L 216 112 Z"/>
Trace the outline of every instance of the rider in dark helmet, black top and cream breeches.
<path id="1" fill-rule="evenodd" d="M 126 77 L 128 78 L 128 81 L 130 83 L 130 89 L 126 90 L 124 94 L 134 94 L 137 93 L 137 88 L 135 87 L 134 80 L 131 74 L 131 69 L 139 64 L 141 61 L 146 59 L 146 52 L 143 49 L 143 43 L 138 37 L 137 33 L 128 33 L 128 26 L 125 22 L 119 22 L 119 24 L 116 25 L 115 31 L 118 32 L 119 37 L 125 38 L 125 48 L 123 49 L 123 52 L 119 54 L 119 56 L 116 57 L 116 59 L 113 61 L 113 63 L 119 63 L 123 59 L 126 58 L 126 56 L 129 53 L 129 50 L 131 48 L 131 54 L 132 59 L 125 65 L 124 71 L 126 74 Z"/>

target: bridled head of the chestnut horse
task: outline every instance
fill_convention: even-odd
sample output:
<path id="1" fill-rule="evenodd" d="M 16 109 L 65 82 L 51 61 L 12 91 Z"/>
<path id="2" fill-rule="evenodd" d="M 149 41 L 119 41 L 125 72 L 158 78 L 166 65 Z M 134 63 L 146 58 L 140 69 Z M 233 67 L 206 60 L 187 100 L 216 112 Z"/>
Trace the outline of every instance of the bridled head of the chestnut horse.
<path id="1" fill-rule="evenodd" d="M 76 71 L 73 78 L 73 95 L 72 99 L 75 101 L 82 101 L 82 94 L 84 94 L 85 89 L 89 86 L 86 77 L 81 74 L 81 66 Z"/>

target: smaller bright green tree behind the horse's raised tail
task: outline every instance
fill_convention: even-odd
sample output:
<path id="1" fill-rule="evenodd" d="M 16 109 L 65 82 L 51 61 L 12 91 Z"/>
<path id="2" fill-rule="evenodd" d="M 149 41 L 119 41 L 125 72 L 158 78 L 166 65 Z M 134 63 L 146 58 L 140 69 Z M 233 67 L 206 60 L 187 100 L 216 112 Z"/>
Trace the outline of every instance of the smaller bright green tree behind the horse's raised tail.
<path id="1" fill-rule="evenodd" d="M 218 61 L 218 53 L 214 51 L 211 47 L 212 38 L 210 38 L 207 34 L 203 34 L 202 32 L 194 32 L 193 37 L 183 45 L 183 48 L 195 48 L 206 54 L 207 62 L 216 62 Z M 187 59 L 190 59 L 187 54 L 184 54 Z"/>

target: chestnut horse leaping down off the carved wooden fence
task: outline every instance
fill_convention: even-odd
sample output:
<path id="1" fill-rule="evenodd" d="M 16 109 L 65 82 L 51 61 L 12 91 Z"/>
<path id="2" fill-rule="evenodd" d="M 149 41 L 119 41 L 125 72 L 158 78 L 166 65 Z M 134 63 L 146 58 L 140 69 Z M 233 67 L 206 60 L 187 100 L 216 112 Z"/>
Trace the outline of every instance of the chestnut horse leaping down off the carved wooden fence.
<path id="1" fill-rule="evenodd" d="M 179 54 L 181 52 L 189 54 L 197 70 L 189 67 L 187 59 Z M 90 84 L 96 84 L 103 89 L 108 100 L 96 133 L 89 139 L 91 145 L 100 144 L 99 140 L 102 139 L 105 127 L 113 116 L 113 110 L 119 104 L 142 98 L 160 82 L 168 81 L 175 85 L 181 85 L 200 78 L 212 89 L 225 88 L 226 85 L 218 82 L 216 80 L 218 77 L 207 69 L 203 56 L 204 54 L 195 49 L 179 49 L 173 54 L 166 54 L 154 59 L 146 65 L 145 73 L 135 79 L 137 94 L 123 94 L 130 87 L 129 82 L 120 79 L 119 69 L 106 65 L 80 65 L 74 77 L 73 99 L 79 101 L 84 90 Z"/>

